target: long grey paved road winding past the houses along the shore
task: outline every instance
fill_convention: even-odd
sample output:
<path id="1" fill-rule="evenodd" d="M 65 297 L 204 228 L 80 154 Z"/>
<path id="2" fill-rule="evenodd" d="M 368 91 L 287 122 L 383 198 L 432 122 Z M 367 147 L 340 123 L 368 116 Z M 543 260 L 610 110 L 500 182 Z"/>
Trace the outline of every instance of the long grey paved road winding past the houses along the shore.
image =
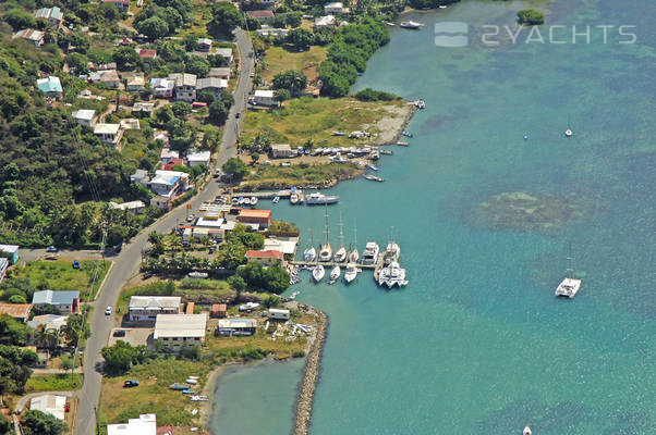
<path id="1" fill-rule="evenodd" d="M 234 90 L 234 104 L 230 109 L 230 117 L 223 130 L 221 149 L 217 158 L 218 167 L 228 159 L 236 156 L 236 138 L 243 117 L 235 119 L 234 114 L 236 112 L 243 113 L 246 109 L 246 100 L 251 90 L 251 72 L 254 69 L 254 58 L 250 55 L 252 47 L 247 35 L 243 30 L 238 29 L 235 36 L 241 60 L 240 77 Z M 219 188 L 220 186 L 215 179 L 210 181 L 203 191 L 190 201 L 192 209 L 197 210 L 203 202 L 212 200 L 218 195 Z M 92 336 L 87 340 L 84 351 L 84 386 L 80 394 L 77 435 L 95 435 L 95 408 L 98 405 L 102 381 L 98 372 L 98 369 L 102 364 L 100 349 L 107 344 L 110 331 L 113 327 L 111 318 L 105 315 L 105 307 L 113 307 L 116 304 L 121 288 L 136 272 L 141 261 L 142 249 L 147 244 L 148 234 L 153 231 L 168 233 L 177 224 L 184 222 L 185 216 L 185 206 L 177 208 L 148 228 L 142 231 L 130 244 L 124 246 L 121 253 L 114 259 L 114 265 L 107 276 L 100 295 L 95 302 L 96 309 L 92 318 Z"/>

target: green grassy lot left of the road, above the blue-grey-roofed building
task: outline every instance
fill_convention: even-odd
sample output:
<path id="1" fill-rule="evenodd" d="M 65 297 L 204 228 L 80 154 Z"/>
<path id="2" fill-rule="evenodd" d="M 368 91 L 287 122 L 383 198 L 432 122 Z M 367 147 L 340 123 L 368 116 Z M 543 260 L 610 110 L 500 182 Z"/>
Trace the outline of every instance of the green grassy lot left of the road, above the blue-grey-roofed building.
<path id="1" fill-rule="evenodd" d="M 109 270 L 111 261 L 81 260 L 81 268 L 75 270 L 70 261 L 31 261 L 19 269 L 15 276 L 26 277 L 38 289 L 80 290 L 83 301 L 89 300 L 88 290 L 93 277 L 98 274 L 93 288 L 96 293 Z"/>

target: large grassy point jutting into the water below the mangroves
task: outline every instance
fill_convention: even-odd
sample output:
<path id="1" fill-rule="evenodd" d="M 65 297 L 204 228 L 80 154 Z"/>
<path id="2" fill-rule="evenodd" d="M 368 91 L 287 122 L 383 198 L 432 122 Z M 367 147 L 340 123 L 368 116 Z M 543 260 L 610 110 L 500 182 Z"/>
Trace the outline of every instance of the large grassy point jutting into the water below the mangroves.
<path id="1" fill-rule="evenodd" d="M 266 134 L 274 144 L 303 146 L 312 139 L 315 147 L 366 146 L 376 138 L 349 139 L 333 136 L 332 132 L 366 129 L 373 136 L 380 133 L 377 123 L 385 120 L 402 121 L 404 114 L 390 112 L 389 108 L 403 111 L 403 101 L 363 102 L 354 98 L 296 98 L 286 102 L 284 109 L 248 111 L 242 142 L 248 144 L 258 134 Z"/>

